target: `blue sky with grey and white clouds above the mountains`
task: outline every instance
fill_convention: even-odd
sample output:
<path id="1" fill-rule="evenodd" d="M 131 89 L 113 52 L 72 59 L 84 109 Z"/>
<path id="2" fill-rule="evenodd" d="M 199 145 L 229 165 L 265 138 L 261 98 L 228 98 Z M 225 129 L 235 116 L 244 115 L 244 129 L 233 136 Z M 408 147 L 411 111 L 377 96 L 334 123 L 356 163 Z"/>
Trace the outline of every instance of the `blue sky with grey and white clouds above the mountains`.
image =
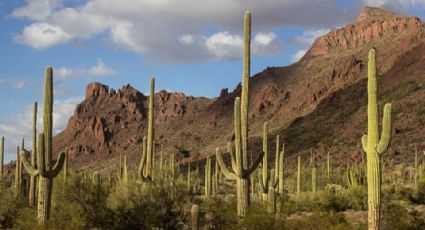
<path id="1" fill-rule="evenodd" d="M 243 13 L 252 13 L 253 74 L 299 60 L 314 39 L 364 6 L 425 18 L 425 0 L 7 0 L 0 1 L 0 136 L 5 163 L 31 144 L 33 102 L 54 68 L 54 132 L 90 82 L 214 98 L 241 80 Z M 39 113 L 41 118 L 41 114 Z M 38 121 L 41 127 L 41 119 Z"/>

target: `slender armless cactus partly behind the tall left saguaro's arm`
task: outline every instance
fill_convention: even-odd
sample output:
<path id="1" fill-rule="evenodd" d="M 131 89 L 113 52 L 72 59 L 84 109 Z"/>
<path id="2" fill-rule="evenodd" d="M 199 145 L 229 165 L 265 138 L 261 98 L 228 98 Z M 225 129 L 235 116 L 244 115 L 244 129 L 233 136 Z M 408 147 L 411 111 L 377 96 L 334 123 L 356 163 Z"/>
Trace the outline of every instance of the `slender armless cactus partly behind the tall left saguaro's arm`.
<path id="1" fill-rule="evenodd" d="M 34 102 L 34 111 L 32 118 L 32 153 L 31 153 L 31 165 L 37 165 L 37 102 Z M 36 190 L 37 177 L 30 175 L 30 188 L 28 196 L 28 205 L 30 207 L 35 206 L 35 190 Z"/>

